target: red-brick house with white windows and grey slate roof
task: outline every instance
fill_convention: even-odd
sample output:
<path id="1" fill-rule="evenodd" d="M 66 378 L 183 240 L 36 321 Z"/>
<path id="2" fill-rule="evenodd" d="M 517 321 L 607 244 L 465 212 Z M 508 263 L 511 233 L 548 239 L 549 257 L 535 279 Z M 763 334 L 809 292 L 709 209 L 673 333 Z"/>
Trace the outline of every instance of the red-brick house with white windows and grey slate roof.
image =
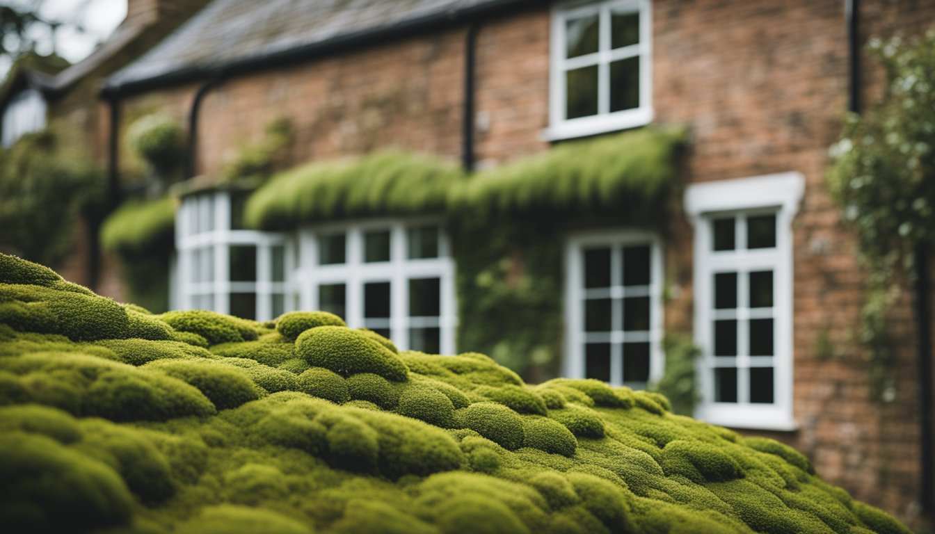
<path id="1" fill-rule="evenodd" d="M 696 416 L 787 442 L 829 482 L 918 526 L 933 481 L 920 475 L 913 343 L 897 350 L 892 398 L 872 399 L 847 334 L 864 275 L 824 176 L 842 113 L 883 90 L 862 43 L 918 35 L 933 16 L 909 0 L 214 0 L 104 94 L 111 132 L 153 109 L 189 126 L 199 178 L 179 190 L 176 306 L 260 320 L 335 310 L 443 354 L 490 349 L 465 346 L 465 325 L 483 320 L 465 301 L 484 290 L 480 275 L 457 278 L 457 215 L 247 229 L 250 192 L 215 178 L 238 146 L 286 117 L 295 166 L 395 147 L 481 178 L 574 139 L 628 146 L 685 128 L 687 150 L 665 152 L 683 192 L 665 224 L 520 215 L 559 227 L 560 372 L 639 387 L 664 372 L 664 334 L 691 333 Z M 521 285 L 530 256 L 500 257 Z M 911 319 L 907 299 L 894 339 L 913 339 Z"/>

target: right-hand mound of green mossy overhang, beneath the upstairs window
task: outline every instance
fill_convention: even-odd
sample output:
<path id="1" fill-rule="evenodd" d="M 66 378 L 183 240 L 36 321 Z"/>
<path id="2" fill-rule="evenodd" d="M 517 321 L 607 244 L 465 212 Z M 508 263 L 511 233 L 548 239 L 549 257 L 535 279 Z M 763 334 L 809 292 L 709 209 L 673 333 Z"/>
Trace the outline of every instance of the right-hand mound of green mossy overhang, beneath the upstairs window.
<path id="1" fill-rule="evenodd" d="M 548 152 L 483 172 L 455 196 L 455 206 L 501 211 L 626 208 L 643 220 L 668 198 L 678 178 L 673 157 L 683 130 L 642 128 L 562 143 Z M 627 203 L 627 200 L 629 202 Z"/>

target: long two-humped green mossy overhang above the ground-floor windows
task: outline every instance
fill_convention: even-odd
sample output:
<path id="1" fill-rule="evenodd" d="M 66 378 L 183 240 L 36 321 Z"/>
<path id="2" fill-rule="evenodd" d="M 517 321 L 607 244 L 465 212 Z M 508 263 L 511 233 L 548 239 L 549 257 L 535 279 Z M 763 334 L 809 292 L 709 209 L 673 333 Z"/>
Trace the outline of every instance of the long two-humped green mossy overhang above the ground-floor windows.
<path id="1" fill-rule="evenodd" d="M 640 220 L 669 198 L 685 138 L 683 129 L 643 128 L 563 143 L 470 177 L 451 163 L 399 151 L 313 163 L 275 176 L 254 193 L 247 224 L 273 230 L 345 217 L 474 208 L 624 209 Z"/>

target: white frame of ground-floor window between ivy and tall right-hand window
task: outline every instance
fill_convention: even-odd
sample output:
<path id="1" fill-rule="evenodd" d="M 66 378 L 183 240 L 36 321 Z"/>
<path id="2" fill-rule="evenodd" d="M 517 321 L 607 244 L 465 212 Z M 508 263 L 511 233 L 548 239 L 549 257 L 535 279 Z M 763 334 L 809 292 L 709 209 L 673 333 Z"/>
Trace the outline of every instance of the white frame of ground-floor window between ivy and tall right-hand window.
<path id="1" fill-rule="evenodd" d="M 650 247 L 650 284 L 634 288 L 623 287 L 623 282 L 614 284 L 620 276 L 623 261 L 621 249 L 626 246 L 649 245 Z M 664 307 L 662 306 L 663 289 L 663 254 L 660 239 L 652 232 L 640 230 L 602 230 L 572 234 L 565 247 L 565 361 L 563 373 L 570 378 L 585 377 L 584 342 L 584 255 L 585 249 L 592 247 L 611 248 L 611 293 L 614 301 L 624 296 L 650 297 L 650 329 L 645 334 L 611 331 L 611 385 L 629 385 L 620 382 L 623 375 L 623 357 L 619 349 L 625 341 L 649 341 L 650 372 L 649 382 L 662 378 L 665 366 L 665 354 L 662 351 L 664 335 Z M 626 268 L 626 267 L 625 267 Z M 592 334 L 594 335 L 594 334 Z"/>

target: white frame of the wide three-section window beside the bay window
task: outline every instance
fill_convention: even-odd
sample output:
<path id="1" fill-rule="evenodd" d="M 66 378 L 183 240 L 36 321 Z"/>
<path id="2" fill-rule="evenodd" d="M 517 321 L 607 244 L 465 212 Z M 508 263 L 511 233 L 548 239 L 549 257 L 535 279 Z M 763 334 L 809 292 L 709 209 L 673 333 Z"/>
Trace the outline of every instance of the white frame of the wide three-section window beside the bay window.
<path id="1" fill-rule="evenodd" d="M 408 230 L 410 227 L 423 225 L 439 228 L 438 257 L 410 259 L 407 249 Z M 364 234 L 373 230 L 390 231 L 390 261 L 364 262 Z M 344 263 L 318 265 L 317 238 L 335 233 L 344 233 L 347 236 Z M 439 352 L 454 354 L 454 333 L 457 326 L 454 263 L 451 243 L 438 218 L 370 219 L 305 227 L 298 233 L 298 248 L 298 265 L 293 271 L 292 279 L 297 281 L 295 290 L 298 291 L 301 309 L 319 309 L 320 284 L 343 283 L 346 292 L 344 321 L 352 328 L 364 327 L 364 284 L 368 281 L 389 281 L 390 319 L 387 327 L 396 346 L 401 350 L 409 348 L 410 327 L 438 325 Z M 409 316 L 409 281 L 421 278 L 439 279 L 440 302 L 437 320 Z"/>

